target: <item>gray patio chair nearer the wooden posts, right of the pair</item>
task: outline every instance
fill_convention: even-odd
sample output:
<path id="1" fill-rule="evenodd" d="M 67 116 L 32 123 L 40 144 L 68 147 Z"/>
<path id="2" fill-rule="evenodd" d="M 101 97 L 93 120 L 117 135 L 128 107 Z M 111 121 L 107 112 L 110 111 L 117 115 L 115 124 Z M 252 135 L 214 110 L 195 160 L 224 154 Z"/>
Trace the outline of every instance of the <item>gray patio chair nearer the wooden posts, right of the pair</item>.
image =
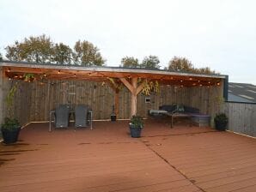
<path id="1" fill-rule="evenodd" d="M 91 123 L 91 113 L 89 114 L 89 107 L 88 105 L 76 105 L 75 108 L 75 127 L 82 128 L 88 126 Z M 90 115 L 90 116 L 89 116 Z"/>

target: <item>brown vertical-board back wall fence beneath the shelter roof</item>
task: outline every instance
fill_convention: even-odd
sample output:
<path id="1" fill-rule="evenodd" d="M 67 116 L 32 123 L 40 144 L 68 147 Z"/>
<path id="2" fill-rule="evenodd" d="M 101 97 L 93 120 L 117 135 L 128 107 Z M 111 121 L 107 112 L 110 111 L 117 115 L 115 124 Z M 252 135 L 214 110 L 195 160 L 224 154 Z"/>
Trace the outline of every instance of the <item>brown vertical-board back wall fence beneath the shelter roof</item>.
<path id="1" fill-rule="evenodd" d="M 49 120 L 49 111 L 59 104 L 85 104 L 92 107 L 94 119 L 109 119 L 114 105 L 114 92 L 107 84 L 94 81 L 22 82 L 15 96 L 15 116 L 31 121 Z M 150 102 L 145 102 L 149 98 Z M 160 93 L 137 96 L 137 114 L 148 116 L 160 105 L 183 104 L 197 107 L 212 117 L 220 111 L 222 87 L 161 86 Z M 131 93 L 124 86 L 119 92 L 119 118 L 130 118 Z M 26 111 L 26 112 L 25 112 Z M 27 116 L 27 117 L 25 117 Z"/>

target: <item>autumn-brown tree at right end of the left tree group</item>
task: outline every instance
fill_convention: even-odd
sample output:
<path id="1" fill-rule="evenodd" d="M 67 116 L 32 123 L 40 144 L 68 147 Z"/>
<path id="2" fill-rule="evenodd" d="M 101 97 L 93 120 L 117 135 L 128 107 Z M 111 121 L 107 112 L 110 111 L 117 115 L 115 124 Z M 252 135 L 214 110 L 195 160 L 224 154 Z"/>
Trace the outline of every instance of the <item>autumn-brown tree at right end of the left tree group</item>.
<path id="1" fill-rule="evenodd" d="M 73 52 L 74 63 L 83 66 L 102 66 L 105 63 L 105 60 L 101 57 L 99 51 L 100 50 L 92 43 L 78 40 Z"/>

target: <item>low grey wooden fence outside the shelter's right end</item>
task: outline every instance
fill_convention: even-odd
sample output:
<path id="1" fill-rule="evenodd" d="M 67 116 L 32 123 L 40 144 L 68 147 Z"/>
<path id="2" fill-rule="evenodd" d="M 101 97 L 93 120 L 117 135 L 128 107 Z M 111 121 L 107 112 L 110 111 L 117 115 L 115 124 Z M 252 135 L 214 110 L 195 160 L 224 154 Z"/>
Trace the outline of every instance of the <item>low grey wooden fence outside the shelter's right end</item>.
<path id="1" fill-rule="evenodd" d="M 227 102 L 224 111 L 229 117 L 229 130 L 256 137 L 256 104 Z"/>

